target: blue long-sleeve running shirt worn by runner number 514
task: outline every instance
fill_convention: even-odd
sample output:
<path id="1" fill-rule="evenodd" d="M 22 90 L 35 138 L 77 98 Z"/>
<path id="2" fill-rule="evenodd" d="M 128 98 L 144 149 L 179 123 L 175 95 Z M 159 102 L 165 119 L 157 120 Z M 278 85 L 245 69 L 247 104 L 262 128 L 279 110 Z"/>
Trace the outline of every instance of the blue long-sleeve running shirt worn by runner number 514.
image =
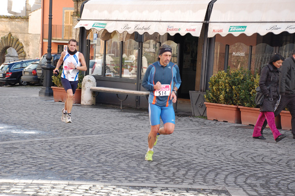
<path id="1" fill-rule="evenodd" d="M 161 84 L 170 84 L 171 89 L 168 96 L 155 96 L 153 85 L 157 82 L 160 82 Z M 169 62 L 167 66 L 163 66 L 159 61 L 157 61 L 149 65 L 142 83 L 142 86 L 146 90 L 150 91 L 148 103 L 166 107 L 171 105 L 172 100 L 170 100 L 170 95 L 172 93 L 174 83 L 177 89 L 179 89 L 181 79 L 177 64 Z"/>

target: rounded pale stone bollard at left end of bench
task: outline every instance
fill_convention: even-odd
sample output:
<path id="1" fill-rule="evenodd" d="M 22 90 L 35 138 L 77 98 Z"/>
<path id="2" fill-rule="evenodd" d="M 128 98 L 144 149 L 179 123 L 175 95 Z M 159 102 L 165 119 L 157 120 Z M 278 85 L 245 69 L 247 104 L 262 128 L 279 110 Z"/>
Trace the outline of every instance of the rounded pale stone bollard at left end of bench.
<path id="1" fill-rule="evenodd" d="M 96 86 L 96 80 L 93 76 L 87 75 L 82 82 L 81 105 L 95 105 L 95 92 L 90 91 L 91 86 Z"/>

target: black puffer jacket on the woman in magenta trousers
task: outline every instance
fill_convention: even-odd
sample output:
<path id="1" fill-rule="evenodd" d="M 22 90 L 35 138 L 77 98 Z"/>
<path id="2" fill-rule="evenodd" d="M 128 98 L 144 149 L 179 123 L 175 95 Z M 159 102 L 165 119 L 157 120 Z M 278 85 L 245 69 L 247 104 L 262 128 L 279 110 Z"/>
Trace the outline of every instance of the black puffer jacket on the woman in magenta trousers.
<path id="1" fill-rule="evenodd" d="M 279 77 L 280 71 L 272 64 L 268 63 L 261 70 L 259 86 L 265 98 L 262 106 L 260 106 L 260 112 L 274 112 L 274 107 L 279 97 Z M 273 81 L 272 84 L 267 88 L 271 81 Z"/>

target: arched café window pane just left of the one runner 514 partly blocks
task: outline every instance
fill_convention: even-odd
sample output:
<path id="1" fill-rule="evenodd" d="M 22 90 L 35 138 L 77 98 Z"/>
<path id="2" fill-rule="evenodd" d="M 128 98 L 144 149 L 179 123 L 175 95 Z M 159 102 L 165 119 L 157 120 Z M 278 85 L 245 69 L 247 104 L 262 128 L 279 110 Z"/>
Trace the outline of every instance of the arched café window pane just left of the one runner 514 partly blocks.
<path id="1" fill-rule="evenodd" d="M 128 39 L 123 43 L 122 78 L 136 79 L 138 42 Z"/>

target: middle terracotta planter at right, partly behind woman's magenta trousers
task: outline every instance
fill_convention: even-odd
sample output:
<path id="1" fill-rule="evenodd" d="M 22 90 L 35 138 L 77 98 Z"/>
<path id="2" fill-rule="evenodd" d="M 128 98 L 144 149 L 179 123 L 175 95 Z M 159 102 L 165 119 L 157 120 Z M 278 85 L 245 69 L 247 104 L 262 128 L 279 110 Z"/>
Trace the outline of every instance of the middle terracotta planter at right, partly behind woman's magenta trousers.
<path id="1" fill-rule="evenodd" d="M 255 125 L 257 122 L 257 118 L 260 113 L 259 108 L 249 108 L 244 106 L 238 107 L 241 112 L 241 121 L 243 125 Z M 275 125 L 279 129 L 281 128 L 281 122 L 280 122 L 280 116 L 276 116 L 275 119 Z M 268 125 L 266 126 L 268 127 Z"/>

